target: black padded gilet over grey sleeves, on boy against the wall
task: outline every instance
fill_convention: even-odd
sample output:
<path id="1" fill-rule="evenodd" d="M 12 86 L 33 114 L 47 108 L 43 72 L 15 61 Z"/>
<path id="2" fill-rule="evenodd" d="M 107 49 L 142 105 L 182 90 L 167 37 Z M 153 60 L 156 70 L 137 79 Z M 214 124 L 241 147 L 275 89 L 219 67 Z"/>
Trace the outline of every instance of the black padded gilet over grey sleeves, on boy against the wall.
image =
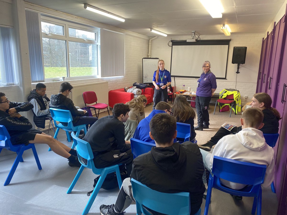
<path id="1" fill-rule="evenodd" d="M 46 96 L 46 94 L 44 95 L 44 98 L 47 100 L 47 101 L 50 101 L 50 99 Z M 38 102 L 39 106 L 40 106 L 40 110 L 46 110 L 46 105 L 45 105 L 45 102 L 43 100 L 43 97 L 41 95 L 39 95 L 37 92 L 36 92 L 36 89 L 30 91 L 30 94 L 28 95 L 28 101 L 30 102 L 32 99 L 36 99 L 36 101 Z M 34 117 L 33 117 L 33 120 L 34 120 L 34 123 L 37 127 L 39 128 L 45 128 L 45 121 L 46 121 L 46 116 L 47 115 L 43 115 L 43 116 L 36 116 L 36 114 L 34 113 L 34 111 L 32 110 L 33 114 L 34 114 Z"/>

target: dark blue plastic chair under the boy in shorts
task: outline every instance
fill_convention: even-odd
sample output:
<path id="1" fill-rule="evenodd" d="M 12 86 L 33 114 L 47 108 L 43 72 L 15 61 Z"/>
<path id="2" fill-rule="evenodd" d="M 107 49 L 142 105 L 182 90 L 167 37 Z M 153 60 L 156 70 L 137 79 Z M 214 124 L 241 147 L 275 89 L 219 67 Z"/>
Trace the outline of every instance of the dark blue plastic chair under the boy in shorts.
<path id="1" fill-rule="evenodd" d="M 22 155 L 23 155 L 23 152 L 27 149 L 32 148 L 38 169 L 39 170 L 42 169 L 35 145 L 32 143 L 28 144 L 27 146 L 25 146 L 24 144 L 12 145 L 12 143 L 10 141 L 10 135 L 9 135 L 7 129 L 5 128 L 5 126 L 0 125 L 0 149 L 2 150 L 2 148 L 7 148 L 8 150 L 17 153 L 17 157 L 16 157 L 16 159 L 12 165 L 12 168 L 11 168 L 7 178 L 6 178 L 4 186 L 6 186 L 10 183 L 19 162 L 23 162 Z M 0 150 L 0 152 L 1 152 L 1 150 Z"/>

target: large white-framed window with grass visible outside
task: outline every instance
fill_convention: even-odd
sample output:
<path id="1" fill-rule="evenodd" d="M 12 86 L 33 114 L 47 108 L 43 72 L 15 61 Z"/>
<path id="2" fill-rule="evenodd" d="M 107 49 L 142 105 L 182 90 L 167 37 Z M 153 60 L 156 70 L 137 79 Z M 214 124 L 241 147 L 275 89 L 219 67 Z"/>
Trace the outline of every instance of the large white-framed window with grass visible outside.
<path id="1" fill-rule="evenodd" d="M 42 18 L 47 19 L 41 21 L 45 79 L 98 77 L 100 30 Z"/>

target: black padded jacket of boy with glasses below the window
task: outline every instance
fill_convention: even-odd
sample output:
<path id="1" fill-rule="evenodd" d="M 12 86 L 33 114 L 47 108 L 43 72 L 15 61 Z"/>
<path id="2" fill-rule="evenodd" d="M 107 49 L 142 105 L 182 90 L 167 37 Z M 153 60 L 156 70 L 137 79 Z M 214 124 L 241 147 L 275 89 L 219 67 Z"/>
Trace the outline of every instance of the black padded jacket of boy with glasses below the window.
<path id="1" fill-rule="evenodd" d="M 56 95 L 51 95 L 51 101 L 50 101 L 49 107 L 58 108 L 61 110 L 69 110 L 73 117 L 73 124 L 76 124 L 79 121 L 80 116 L 85 116 L 84 111 L 78 111 L 73 101 L 65 97 L 61 93 L 56 94 Z"/>

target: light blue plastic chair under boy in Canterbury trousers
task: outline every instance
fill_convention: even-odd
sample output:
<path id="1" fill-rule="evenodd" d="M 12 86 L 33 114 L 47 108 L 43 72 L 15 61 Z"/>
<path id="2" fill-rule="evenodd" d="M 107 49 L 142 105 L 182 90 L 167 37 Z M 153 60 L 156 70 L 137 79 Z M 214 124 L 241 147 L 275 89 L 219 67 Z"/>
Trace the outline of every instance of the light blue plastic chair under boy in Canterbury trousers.
<path id="1" fill-rule="evenodd" d="M 90 144 L 88 142 L 86 142 L 85 140 L 81 140 L 78 137 L 75 136 L 75 133 L 72 132 L 71 133 L 76 149 L 77 149 L 77 154 L 78 154 L 78 159 L 80 161 L 80 163 L 82 164 L 82 166 L 80 167 L 77 175 L 75 176 L 73 182 L 71 183 L 67 193 L 71 193 L 73 187 L 75 186 L 75 184 L 77 183 L 77 180 L 79 179 L 80 175 L 82 174 L 82 171 L 84 170 L 84 168 L 88 168 L 88 169 L 92 169 L 93 173 L 95 173 L 96 175 L 101 175 L 99 178 L 99 181 L 94 189 L 94 191 L 91 194 L 91 197 L 83 211 L 83 215 L 87 214 L 92 206 L 92 204 L 94 203 L 94 200 L 96 198 L 96 196 L 98 195 L 98 192 L 102 186 L 102 183 L 104 182 L 104 179 L 106 178 L 106 175 L 108 173 L 113 173 L 116 172 L 117 174 L 117 179 L 118 179 L 118 183 L 119 183 L 119 188 L 121 189 L 121 185 L 122 185 L 122 179 L 121 179 L 121 174 L 120 174 L 120 170 L 119 170 L 119 165 L 113 165 L 110 167 L 106 167 L 106 168 L 102 168 L 102 169 L 97 169 L 94 165 L 94 155 L 92 152 L 92 148 L 90 146 Z M 83 159 L 87 159 L 88 163 L 85 164 Z M 121 165 L 121 164 L 120 164 Z"/>

